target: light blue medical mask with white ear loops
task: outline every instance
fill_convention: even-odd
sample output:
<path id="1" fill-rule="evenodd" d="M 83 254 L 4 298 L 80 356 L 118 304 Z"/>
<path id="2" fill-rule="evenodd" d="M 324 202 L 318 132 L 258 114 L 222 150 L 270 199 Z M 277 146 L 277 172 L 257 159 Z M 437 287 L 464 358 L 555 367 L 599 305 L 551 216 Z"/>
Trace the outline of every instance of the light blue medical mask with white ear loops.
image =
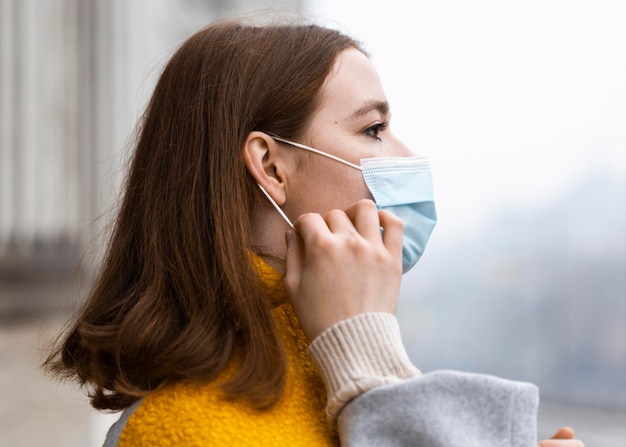
<path id="1" fill-rule="evenodd" d="M 433 185 L 428 160 L 424 157 L 362 158 L 361 165 L 350 163 L 318 149 L 273 137 L 276 141 L 314 152 L 363 173 L 376 207 L 387 210 L 404 224 L 402 240 L 402 272 L 408 272 L 419 261 L 428 238 L 437 222 Z M 267 191 L 259 185 L 271 204 L 285 221 L 293 224 Z"/>

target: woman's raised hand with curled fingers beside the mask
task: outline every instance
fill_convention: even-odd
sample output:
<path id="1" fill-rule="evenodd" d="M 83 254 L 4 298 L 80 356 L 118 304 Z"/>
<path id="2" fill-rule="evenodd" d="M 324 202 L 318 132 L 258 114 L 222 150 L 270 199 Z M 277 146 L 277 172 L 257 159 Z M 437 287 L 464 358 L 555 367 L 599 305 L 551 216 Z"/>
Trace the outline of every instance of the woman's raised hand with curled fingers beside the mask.
<path id="1" fill-rule="evenodd" d="M 395 313 L 402 277 L 397 217 L 360 200 L 323 217 L 303 214 L 294 225 L 286 235 L 285 288 L 311 340 L 357 314 Z"/>

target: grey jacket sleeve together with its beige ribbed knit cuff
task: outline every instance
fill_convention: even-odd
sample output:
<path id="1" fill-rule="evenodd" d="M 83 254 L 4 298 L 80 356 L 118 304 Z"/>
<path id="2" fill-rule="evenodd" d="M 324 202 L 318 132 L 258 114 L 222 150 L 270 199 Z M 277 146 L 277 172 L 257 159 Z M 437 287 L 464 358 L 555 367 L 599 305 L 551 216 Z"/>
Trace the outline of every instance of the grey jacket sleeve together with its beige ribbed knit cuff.
<path id="1" fill-rule="evenodd" d="M 361 314 L 309 348 L 342 446 L 536 447 L 537 388 L 493 376 L 422 375 L 393 315 Z"/>

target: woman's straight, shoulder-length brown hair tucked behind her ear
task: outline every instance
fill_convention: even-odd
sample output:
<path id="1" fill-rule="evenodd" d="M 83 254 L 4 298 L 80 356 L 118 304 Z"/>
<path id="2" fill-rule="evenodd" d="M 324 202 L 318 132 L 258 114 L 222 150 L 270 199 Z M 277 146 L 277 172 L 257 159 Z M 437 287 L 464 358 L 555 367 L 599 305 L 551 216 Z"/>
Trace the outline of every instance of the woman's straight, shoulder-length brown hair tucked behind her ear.
<path id="1" fill-rule="evenodd" d="M 285 355 L 251 265 L 253 130 L 296 139 L 337 54 L 316 25 L 214 24 L 174 54 L 143 116 L 99 277 L 44 366 L 118 410 L 167 381 L 215 378 L 257 408 L 281 395 Z M 238 354 L 239 359 L 239 354 Z"/>

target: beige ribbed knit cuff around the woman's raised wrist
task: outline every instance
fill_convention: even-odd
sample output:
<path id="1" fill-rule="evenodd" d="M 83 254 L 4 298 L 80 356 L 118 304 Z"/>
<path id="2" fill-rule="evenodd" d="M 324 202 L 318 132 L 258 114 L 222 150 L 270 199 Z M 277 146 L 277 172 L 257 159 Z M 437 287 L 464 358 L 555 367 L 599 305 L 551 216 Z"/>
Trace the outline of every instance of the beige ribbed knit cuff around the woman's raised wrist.
<path id="1" fill-rule="evenodd" d="M 388 313 L 366 313 L 340 321 L 317 336 L 309 357 L 326 381 L 326 412 L 335 420 L 343 407 L 365 391 L 418 377 Z"/>

